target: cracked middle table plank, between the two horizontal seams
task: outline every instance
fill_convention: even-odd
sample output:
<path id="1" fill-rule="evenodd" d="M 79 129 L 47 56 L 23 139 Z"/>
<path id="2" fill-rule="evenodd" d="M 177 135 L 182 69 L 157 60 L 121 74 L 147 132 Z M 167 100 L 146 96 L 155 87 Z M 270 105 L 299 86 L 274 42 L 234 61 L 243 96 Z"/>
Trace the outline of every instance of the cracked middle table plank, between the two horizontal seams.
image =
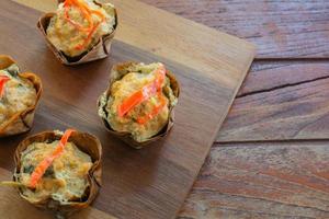
<path id="1" fill-rule="evenodd" d="M 217 141 L 329 136 L 327 61 L 256 64 Z"/>

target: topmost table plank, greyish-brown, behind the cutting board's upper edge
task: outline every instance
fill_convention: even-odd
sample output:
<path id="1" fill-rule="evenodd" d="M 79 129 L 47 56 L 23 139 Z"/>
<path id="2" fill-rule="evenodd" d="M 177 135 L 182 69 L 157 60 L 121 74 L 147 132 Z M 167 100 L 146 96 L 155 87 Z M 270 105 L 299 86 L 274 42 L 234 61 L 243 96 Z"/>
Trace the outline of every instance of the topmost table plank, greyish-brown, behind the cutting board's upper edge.
<path id="1" fill-rule="evenodd" d="M 327 0 L 143 0 L 248 38 L 258 58 L 329 57 Z"/>

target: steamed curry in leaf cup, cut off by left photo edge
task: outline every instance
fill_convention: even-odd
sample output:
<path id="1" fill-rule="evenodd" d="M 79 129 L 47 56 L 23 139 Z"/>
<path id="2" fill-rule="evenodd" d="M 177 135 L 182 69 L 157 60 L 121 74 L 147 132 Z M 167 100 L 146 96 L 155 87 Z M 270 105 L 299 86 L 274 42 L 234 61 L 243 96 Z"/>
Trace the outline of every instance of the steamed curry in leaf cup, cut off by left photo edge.
<path id="1" fill-rule="evenodd" d="M 42 91 L 35 73 L 20 72 L 11 57 L 0 55 L 0 137 L 32 128 Z"/>

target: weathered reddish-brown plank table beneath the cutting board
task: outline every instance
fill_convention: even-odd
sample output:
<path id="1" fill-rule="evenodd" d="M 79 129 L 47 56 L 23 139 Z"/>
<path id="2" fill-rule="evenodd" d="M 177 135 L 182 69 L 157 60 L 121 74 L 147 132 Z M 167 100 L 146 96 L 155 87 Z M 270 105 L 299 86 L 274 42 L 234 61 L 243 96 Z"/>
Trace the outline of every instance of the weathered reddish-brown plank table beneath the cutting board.
<path id="1" fill-rule="evenodd" d="M 329 218 L 329 1 L 143 1 L 258 46 L 179 218 Z"/>

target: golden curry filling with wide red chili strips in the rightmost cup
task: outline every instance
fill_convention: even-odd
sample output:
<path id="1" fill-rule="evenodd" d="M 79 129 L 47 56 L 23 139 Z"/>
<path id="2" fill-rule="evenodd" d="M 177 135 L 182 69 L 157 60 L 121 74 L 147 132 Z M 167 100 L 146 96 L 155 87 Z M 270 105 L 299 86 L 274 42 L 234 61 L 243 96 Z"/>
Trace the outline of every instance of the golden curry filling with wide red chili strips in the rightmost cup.
<path id="1" fill-rule="evenodd" d="M 177 97 L 162 64 L 133 65 L 110 88 L 106 119 L 114 130 L 131 132 L 143 142 L 168 124 Z"/>

